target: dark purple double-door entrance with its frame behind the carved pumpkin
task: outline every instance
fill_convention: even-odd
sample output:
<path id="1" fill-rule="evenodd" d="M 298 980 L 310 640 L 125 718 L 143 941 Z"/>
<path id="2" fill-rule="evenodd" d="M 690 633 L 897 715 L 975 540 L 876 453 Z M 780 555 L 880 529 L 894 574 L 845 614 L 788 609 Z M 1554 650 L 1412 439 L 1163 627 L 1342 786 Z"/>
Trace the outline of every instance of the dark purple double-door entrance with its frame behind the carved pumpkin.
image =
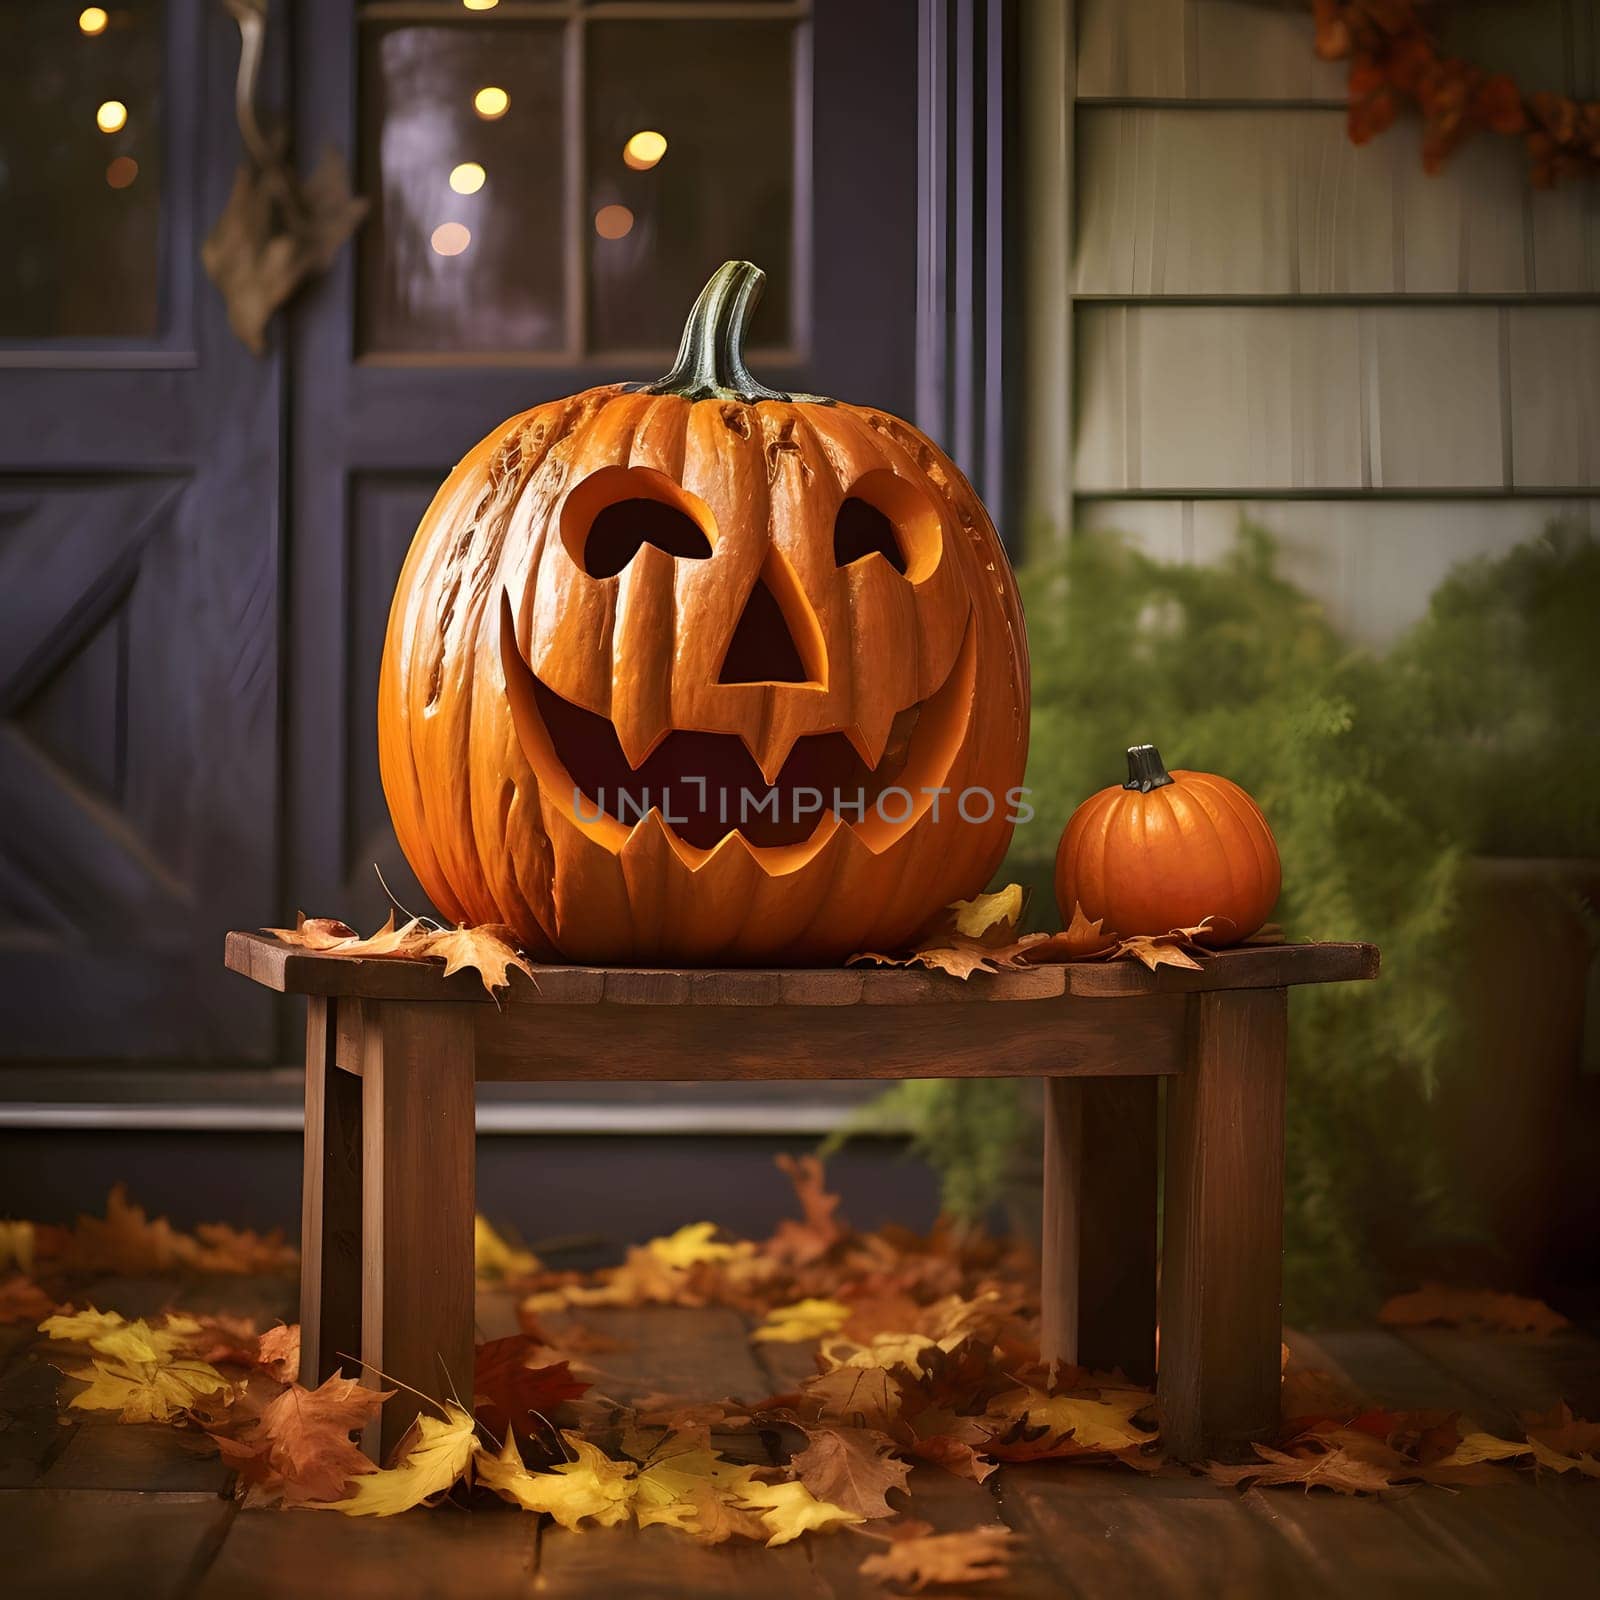
<path id="1" fill-rule="evenodd" d="M 0 235 L 26 235 L 16 270 L 72 277 L 0 320 L 0 1211 L 40 1214 L 24 1174 L 53 1152 L 82 1168 L 77 1192 L 46 1186 L 58 1214 L 96 1206 L 118 1165 L 203 1174 L 200 1210 L 224 1214 L 229 1187 L 278 1194 L 288 1146 L 248 1130 L 283 1128 L 302 1024 L 222 971 L 222 933 L 298 907 L 376 922 L 374 862 L 421 899 L 373 701 L 394 576 L 461 453 L 539 400 L 656 376 L 685 285 L 762 251 L 755 370 L 912 418 L 1005 526 L 1014 0 L 278 0 L 262 117 L 301 171 L 342 150 L 376 205 L 262 357 L 198 264 L 242 158 L 237 26 L 210 0 L 139 0 L 85 37 L 78 10 L 0 0 L 8 37 L 26 21 L 48 45 L 0 62 L 0 101 L 34 106 L 0 115 L 0 162 L 26 178 L 0 184 Z M 35 106 L 38 75 L 61 93 Z M 488 83 L 504 117 L 466 110 Z M 106 133 L 109 99 L 126 118 Z M 667 125 L 654 189 L 618 158 L 635 122 Z M 429 189 L 416 162 L 440 152 L 442 178 L 459 155 L 486 182 Z M 488 275 L 466 299 L 430 195 L 478 229 Z M 781 1131 L 770 1096 L 741 1125 L 739 1086 L 720 1093 L 707 1126 L 768 1142 L 853 1099 L 813 1086 Z M 549 1125 L 530 1104 L 522 1131 Z M 603 1104 L 587 1126 L 614 1126 Z M 206 1128 L 227 1141 L 195 1142 Z"/>

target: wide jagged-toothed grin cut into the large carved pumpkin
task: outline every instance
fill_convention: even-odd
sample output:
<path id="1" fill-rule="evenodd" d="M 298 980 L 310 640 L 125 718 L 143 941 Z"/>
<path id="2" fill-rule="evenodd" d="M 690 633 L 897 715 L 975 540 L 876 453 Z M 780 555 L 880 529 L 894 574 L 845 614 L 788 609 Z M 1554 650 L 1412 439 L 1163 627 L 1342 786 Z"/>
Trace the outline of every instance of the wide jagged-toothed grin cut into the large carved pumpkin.
<path id="1" fill-rule="evenodd" d="M 933 805 L 966 738 L 976 678 L 968 619 L 944 683 L 893 720 L 877 762 L 843 728 L 800 734 L 768 781 L 738 733 L 674 728 L 635 766 L 608 717 L 558 694 L 517 648 L 509 597 L 501 658 L 517 738 L 546 803 L 570 808 L 587 834 L 619 850 L 651 814 L 698 859 L 731 837 L 768 864 L 795 866 L 837 827 L 883 850 Z M 781 859 L 778 859 L 781 858 Z"/>

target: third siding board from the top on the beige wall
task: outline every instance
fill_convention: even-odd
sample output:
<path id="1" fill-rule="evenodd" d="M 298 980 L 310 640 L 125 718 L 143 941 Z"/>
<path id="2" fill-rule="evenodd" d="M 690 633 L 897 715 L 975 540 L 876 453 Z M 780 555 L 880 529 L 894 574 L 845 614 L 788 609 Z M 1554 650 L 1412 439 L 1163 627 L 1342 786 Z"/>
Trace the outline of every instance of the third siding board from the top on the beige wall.
<path id="1" fill-rule="evenodd" d="M 1600 486 L 1600 307 L 1077 307 L 1075 490 Z"/>

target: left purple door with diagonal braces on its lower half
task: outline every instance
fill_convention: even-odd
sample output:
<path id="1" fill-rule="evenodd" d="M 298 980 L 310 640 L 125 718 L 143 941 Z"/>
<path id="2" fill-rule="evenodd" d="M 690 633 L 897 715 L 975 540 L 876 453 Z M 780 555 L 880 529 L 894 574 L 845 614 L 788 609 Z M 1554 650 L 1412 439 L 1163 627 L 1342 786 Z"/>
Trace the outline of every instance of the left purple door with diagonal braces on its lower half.
<path id="1" fill-rule="evenodd" d="M 200 0 L 109 10 L 86 35 L 75 6 L 0 5 L 56 29 L 58 85 L 0 123 L 0 235 L 72 262 L 82 210 L 158 194 L 154 293 L 98 306 L 78 261 L 0 339 L 0 1056 L 266 1059 L 270 1003 L 221 949 L 275 909 L 280 362 L 195 272 L 238 32 Z M 96 248 L 142 272 L 141 237 Z"/>

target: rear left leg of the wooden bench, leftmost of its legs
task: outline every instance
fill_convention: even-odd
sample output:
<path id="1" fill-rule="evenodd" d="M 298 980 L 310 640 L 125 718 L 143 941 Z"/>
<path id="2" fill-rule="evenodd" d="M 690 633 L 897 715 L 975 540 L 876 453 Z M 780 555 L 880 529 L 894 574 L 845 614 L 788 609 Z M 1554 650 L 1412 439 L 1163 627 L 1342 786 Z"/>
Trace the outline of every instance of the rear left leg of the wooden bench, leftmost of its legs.
<path id="1" fill-rule="evenodd" d="M 307 1389 L 341 1368 L 360 1371 L 362 1080 L 333 1061 L 338 1003 L 312 995 L 306 1010 L 299 1376 Z"/>

